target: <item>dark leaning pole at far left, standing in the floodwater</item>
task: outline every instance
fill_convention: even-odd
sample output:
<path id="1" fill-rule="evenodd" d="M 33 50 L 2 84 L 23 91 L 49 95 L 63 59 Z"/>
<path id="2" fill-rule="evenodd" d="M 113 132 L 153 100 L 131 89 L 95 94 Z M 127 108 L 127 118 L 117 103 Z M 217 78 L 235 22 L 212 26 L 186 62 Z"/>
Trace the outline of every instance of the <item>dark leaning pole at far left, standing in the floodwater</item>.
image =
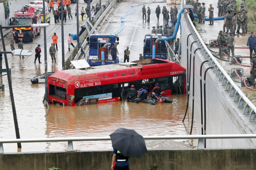
<path id="1" fill-rule="evenodd" d="M 4 44 L 4 34 L 3 34 L 2 24 L 0 24 L 0 31 L 1 31 L 3 50 L 6 51 L 5 44 Z M 20 131 L 19 131 L 16 108 L 15 108 L 15 103 L 14 103 L 13 91 L 12 91 L 12 81 L 11 81 L 10 70 L 9 70 L 9 65 L 8 65 L 8 60 L 7 60 L 6 53 L 4 53 L 4 61 L 5 61 L 7 78 L 8 78 L 8 85 L 9 85 L 9 90 L 10 90 L 10 97 L 11 97 L 11 103 L 12 103 L 12 115 L 13 115 L 13 120 L 14 120 L 16 139 L 20 139 Z M 17 143 L 17 145 L 18 145 L 18 148 L 21 148 L 21 143 Z"/>

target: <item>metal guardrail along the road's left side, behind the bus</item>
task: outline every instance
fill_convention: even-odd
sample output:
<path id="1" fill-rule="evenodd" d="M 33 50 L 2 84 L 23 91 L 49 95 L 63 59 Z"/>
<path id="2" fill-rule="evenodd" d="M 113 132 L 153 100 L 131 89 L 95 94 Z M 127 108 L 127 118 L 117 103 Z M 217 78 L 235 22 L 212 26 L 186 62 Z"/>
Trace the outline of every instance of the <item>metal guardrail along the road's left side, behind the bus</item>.
<path id="1" fill-rule="evenodd" d="M 109 11 L 109 9 L 116 3 L 116 0 L 108 0 L 104 5 L 107 7 L 105 10 L 101 8 L 100 11 L 97 12 L 97 14 L 95 15 L 95 17 L 92 20 L 92 25 L 94 28 L 96 28 L 100 21 L 102 20 L 102 18 L 106 15 L 106 13 Z M 88 20 L 88 18 L 87 18 Z M 88 26 L 89 29 L 92 29 L 92 27 L 89 25 Z M 84 33 L 82 33 L 79 36 L 79 40 L 82 44 L 82 47 L 84 48 L 87 41 L 85 40 L 85 38 L 88 36 L 88 32 L 89 30 L 86 29 L 86 31 L 84 31 Z M 90 34 L 92 34 L 94 32 L 94 30 L 92 29 L 90 31 Z M 69 55 L 68 59 L 65 61 L 65 68 L 67 69 L 73 69 L 73 64 L 70 61 L 73 60 L 77 60 L 79 58 L 79 56 L 81 55 L 81 49 L 78 50 L 78 44 L 76 44 L 75 48 L 73 49 L 73 51 L 71 52 L 71 54 Z"/>

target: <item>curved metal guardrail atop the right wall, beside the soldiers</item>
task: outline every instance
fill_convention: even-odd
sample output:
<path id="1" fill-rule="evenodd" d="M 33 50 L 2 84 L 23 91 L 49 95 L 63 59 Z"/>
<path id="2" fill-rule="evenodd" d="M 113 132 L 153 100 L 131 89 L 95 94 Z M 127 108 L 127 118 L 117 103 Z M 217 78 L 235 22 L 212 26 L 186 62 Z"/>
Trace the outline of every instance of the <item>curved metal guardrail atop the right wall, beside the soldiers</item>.
<path id="1" fill-rule="evenodd" d="M 184 2 L 183 2 L 184 3 Z M 182 4 L 183 4 L 182 3 Z M 181 4 L 181 6 L 183 6 Z M 232 78 L 229 77 L 228 73 L 222 68 L 216 58 L 212 55 L 211 51 L 206 47 L 201 36 L 197 32 L 188 14 L 184 14 L 188 25 L 189 31 L 192 33 L 198 48 L 201 48 L 200 52 L 204 56 L 205 60 L 209 60 L 208 65 L 213 68 L 213 72 L 219 77 L 219 81 L 222 81 L 222 86 L 225 86 L 226 91 L 230 91 L 229 96 L 234 96 L 233 101 L 238 102 L 237 107 L 244 108 L 243 114 L 250 115 L 249 121 L 255 122 L 256 107 L 252 102 L 245 96 L 245 94 L 238 88 Z"/>

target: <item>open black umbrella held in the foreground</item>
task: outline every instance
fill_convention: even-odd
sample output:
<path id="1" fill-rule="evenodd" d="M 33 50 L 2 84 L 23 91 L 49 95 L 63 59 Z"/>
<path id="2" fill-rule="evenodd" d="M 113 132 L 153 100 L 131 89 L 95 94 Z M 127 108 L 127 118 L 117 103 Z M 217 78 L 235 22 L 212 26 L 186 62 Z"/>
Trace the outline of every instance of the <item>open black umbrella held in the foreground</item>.
<path id="1" fill-rule="evenodd" d="M 124 156 L 140 158 L 147 152 L 144 138 L 133 129 L 119 128 L 109 136 L 112 146 Z"/>

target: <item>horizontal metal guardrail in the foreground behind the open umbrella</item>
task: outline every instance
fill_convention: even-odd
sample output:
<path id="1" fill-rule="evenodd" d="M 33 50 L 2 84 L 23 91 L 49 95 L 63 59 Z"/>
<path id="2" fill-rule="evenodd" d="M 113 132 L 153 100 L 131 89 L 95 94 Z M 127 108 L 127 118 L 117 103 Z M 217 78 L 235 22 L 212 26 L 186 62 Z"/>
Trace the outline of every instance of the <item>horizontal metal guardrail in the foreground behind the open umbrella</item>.
<path id="1" fill-rule="evenodd" d="M 145 140 L 160 139 L 198 139 L 198 149 L 204 149 L 204 139 L 245 139 L 256 138 L 256 134 L 237 134 L 237 135 L 152 135 L 143 136 Z M 37 142 L 68 142 L 67 151 L 73 151 L 73 142 L 76 141 L 110 141 L 109 136 L 105 137 L 50 137 L 50 138 L 27 138 L 27 139 L 1 139 L 0 154 L 4 153 L 3 144 L 10 143 L 37 143 Z"/>

